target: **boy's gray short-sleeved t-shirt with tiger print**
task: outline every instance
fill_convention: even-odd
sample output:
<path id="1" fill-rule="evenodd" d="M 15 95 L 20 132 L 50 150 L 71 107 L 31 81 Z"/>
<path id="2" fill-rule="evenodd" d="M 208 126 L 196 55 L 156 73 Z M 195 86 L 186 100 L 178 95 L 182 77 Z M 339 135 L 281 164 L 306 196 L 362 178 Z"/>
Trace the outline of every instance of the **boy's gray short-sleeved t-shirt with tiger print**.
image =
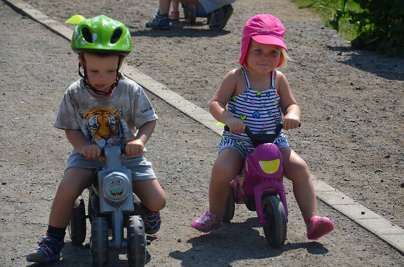
<path id="1" fill-rule="evenodd" d="M 80 129 L 88 142 L 100 148 L 125 147 L 140 126 L 158 118 L 141 86 L 123 74 L 110 97 L 94 96 L 90 90 L 83 79 L 69 86 L 55 127 Z"/>

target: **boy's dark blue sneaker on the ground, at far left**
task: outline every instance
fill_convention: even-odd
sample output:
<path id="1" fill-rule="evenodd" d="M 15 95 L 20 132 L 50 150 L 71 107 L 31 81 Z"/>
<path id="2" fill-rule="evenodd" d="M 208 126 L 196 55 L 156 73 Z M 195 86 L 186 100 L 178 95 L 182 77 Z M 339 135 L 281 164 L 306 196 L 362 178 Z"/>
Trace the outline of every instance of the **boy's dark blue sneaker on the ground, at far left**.
<path id="1" fill-rule="evenodd" d="M 45 237 L 39 241 L 38 246 L 27 254 L 27 261 L 45 263 L 58 260 L 62 257 L 60 252 L 65 242 L 52 237 Z"/>

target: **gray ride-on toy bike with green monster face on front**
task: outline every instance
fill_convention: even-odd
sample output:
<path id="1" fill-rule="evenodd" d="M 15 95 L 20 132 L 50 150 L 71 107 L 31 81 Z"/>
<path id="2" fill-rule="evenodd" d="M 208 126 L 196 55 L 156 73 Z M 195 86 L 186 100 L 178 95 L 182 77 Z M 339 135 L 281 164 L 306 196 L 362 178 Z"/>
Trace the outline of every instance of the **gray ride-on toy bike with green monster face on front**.
<path id="1" fill-rule="evenodd" d="M 91 223 L 92 266 L 108 266 L 109 249 L 127 248 L 129 266 L 144 266 L 149 241 L 144 233 L 145 208 L 132 190 L 132 173 L 122 166 L 121 148 L 105 147 L 106 167 L 94 174 L 88 188 L 88 215 L 80 195 L 69 223 L 70 239 L 82 244 L 86 237 L 86 218 Z M 126 228 L 126 236 L 124 236 Z M 112 238 L 109 238 L 112 232 Z"/>

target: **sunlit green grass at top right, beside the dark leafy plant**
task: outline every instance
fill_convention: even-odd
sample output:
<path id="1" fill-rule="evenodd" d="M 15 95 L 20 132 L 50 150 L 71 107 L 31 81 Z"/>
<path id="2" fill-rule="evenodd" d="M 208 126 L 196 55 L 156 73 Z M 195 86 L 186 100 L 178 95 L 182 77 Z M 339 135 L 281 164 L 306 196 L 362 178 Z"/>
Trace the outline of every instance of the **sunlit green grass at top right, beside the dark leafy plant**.
<path id="1" fill-rule="evenodd" d="M 342 9 L 339 0 L 290 0 L 296 3 L 299 8 L 310 8 L 318 13 L 325 24 L 329 25 L 330 20 L 334 18 L 334 11 Z M 361 10 L 358 4 L 347 1 L 345 9 Z M 356 26 L 349 23 L 347 18 L 341 18 L 339 21 L 339 34 L 347 40 L 353 40 L 357 37 Z"/>

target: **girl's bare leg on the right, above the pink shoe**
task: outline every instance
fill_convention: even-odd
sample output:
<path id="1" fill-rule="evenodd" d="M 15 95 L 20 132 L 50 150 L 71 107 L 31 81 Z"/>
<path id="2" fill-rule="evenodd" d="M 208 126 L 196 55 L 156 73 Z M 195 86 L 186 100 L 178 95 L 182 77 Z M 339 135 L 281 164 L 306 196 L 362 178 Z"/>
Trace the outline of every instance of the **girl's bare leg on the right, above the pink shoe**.
<path id="1" fill-rule="evenodd" d="M 318 215 L 316 193 L 309 168 L 291 148 L 279 150 L 283 158 L 284 175 L 292 181 L 294 197 L 307 224 L 311 217 Z"/>

